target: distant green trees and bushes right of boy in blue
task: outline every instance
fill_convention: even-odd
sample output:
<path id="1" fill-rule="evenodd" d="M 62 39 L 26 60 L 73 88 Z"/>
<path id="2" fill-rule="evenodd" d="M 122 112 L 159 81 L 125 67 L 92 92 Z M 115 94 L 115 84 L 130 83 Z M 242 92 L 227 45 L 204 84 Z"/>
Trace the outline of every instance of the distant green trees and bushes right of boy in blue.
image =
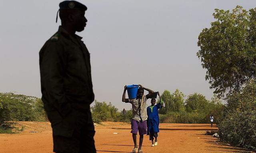
<path id="1" fill-rule="evenodd" d="M 210 115 L 213 115 L 214 122 L 218 124 L 224 110 L 224 105 L 216 95 L 212 101 L 209 101 L 202 94 L 190 94 L 185 104 L 184 94 L 179 90 L 173 94 L 165 90 L 161 97 L 167 100 L 164 101 L 164 108 L 159 111 L 159 119 L 162 123 L 209 123 Z M 175 108 L 175 106 L 179 107 Z"/>

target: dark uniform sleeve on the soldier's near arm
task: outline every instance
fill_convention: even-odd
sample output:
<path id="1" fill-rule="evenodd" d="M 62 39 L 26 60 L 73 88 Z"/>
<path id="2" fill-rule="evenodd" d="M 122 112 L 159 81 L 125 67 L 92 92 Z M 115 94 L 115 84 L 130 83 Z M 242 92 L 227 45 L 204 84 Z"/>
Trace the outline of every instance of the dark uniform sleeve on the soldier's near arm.
<path id="1" fill-rule="evenodd" d="M 40 75 L 42 94 L 46 94 L 48 102 L 65 116 L 71 111 L 63 91 L 63 75 L 66 64 L 64 48 L 56 41 L 50 41 L 40 51 Z"/>

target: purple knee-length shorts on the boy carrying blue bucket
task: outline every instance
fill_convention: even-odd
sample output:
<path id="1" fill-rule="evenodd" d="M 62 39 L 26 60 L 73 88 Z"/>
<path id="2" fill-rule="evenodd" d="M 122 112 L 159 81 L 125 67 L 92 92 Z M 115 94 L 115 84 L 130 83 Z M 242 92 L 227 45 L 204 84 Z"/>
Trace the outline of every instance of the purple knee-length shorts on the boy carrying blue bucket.
<path id="1" fill-rule="evenodd" d="M 139 135 L 147 134 L 147 120 L 138 122 L 137 120 L 132 119 L 132 131 L 131 133 L 137 134 L 139 131 Z"/>

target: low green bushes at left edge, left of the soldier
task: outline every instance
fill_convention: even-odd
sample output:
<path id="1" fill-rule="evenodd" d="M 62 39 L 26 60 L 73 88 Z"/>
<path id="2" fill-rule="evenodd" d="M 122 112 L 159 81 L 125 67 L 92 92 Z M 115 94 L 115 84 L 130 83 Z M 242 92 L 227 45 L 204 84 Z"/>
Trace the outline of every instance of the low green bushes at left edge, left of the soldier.
<path id="1" fill-rule="evenodd" d="M 6 121 L 47 121 L 41 99 L 12 92 L 0 93 L 1 131 L 13 129 Z"/>

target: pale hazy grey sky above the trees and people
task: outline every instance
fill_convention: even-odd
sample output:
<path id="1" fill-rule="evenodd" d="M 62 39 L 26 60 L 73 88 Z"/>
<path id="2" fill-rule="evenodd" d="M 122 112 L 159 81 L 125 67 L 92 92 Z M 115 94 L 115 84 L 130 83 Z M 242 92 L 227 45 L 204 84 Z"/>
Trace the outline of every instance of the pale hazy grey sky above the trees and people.
<path id="1" fill-rule="evenodd" d="M 60 25 L 61 0 L 0 0 L 0 92 L 41 97 L 38 52 Z M 77 33 L 91 53 L 96 100 L 119 109 L 125 84 L 176 88 L 208 100 L 213 90 L 196 57 L 198 34 L 214 8 L 256 7 L 256 0 L 80 0 L 88 7 Z M 148 104 L 150 101 L 148 100 Z"/>

